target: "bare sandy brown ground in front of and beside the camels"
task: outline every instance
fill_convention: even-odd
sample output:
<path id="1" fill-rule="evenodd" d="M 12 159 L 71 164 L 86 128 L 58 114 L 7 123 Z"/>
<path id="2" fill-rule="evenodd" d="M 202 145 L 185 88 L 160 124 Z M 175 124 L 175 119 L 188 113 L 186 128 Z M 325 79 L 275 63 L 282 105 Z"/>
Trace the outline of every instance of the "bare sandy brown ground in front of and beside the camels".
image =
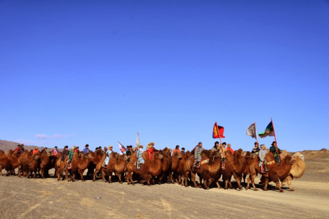
<path id="1" fill-rule="evenodd" d="M 0 218 L 329 218 L 328 164 L 307 160 L 283 193 L 0 177 Z"/>

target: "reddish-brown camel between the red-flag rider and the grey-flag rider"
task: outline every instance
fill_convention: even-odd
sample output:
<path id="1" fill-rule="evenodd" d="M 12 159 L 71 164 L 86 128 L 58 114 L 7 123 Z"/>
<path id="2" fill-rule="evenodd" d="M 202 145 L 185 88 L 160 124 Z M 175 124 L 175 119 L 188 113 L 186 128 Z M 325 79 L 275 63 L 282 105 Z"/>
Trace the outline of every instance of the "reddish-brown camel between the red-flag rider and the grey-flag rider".
<path id="1" fill-rule="evenodd" d="M 225 164 L 225 170 L 223 170 L 223 181 L 225 181 L 225 187 L 224 189 L 228 189 L 228 183 L 233 176 L 236 180 L 236 183 L 238 183 L 238 190 L 242 190 L 241 186 L 241 179 L 243 171 L 245 170 L 245 155 L 243 153 L 242 149 L 239 149 L 238 151 L 234 152 L 234 155 L 232 155 L 231 151 L 226 151 L 226 164 Z M 230 185 L 230 189 L 232 189 L 232 185 Z"/>

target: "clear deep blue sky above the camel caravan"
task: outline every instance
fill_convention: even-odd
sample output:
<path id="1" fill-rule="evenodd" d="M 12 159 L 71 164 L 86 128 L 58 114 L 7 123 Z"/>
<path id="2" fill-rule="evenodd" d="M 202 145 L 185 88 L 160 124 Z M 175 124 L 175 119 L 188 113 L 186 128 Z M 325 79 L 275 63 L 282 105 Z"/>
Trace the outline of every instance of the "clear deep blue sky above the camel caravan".
<path id="1" fill-rule="evenodd" d="M 327 148 L 329 1 L 0 1 L 0 139 Z M 260 140 L 271 144 L 273 137 Z"/>

